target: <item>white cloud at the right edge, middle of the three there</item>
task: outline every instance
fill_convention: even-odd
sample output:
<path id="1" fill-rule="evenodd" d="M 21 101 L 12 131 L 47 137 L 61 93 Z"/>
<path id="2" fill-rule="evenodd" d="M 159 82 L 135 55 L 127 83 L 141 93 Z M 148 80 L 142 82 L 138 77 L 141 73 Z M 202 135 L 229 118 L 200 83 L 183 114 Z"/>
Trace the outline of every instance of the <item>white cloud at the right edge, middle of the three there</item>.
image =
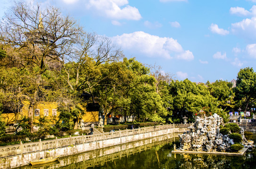
<path id="1" fill-rule="evenodd" d="M 256 17 L 243 19 L 241 22 L 232 23 L 231 31 L 243 38 L 256 40 Z"/>

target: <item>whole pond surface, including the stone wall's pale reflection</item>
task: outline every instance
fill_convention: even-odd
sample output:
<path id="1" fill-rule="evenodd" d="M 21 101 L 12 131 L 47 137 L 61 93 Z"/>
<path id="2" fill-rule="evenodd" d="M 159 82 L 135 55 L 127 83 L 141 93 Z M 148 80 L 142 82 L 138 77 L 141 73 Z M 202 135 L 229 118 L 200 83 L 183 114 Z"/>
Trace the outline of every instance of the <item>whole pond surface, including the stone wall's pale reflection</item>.
<path id="1" fill-rule="evenodd" d="M 38 169 L 256 169 L 255 149 L 244 156 L 172 154 L 174 142 L 179 144 L 176 137 L 165 135 L 158 142 L 156 139 L 140 141 L 142 145 L 149 143 L 143 146 L 135 146 L 139 144 L 134 142 L 75 154 L 61 158 L 57 164 Z"/>

